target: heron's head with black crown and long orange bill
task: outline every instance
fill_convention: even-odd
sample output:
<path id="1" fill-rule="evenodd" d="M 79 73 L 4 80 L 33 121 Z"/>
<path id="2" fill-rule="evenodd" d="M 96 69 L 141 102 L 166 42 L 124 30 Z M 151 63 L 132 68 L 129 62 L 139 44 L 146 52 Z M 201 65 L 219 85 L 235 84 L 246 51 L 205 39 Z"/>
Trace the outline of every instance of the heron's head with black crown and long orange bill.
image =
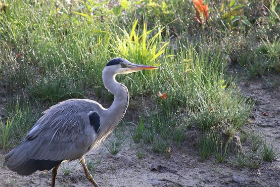
<path id="1" fill-rule="evenodd" d="M 113 58 L 105 66 L 104 70 L 113 72 L 114 74 L 127 74 L 144 69 L 157 69 L 158 67 L 134 64 L 124 58 Z"/>

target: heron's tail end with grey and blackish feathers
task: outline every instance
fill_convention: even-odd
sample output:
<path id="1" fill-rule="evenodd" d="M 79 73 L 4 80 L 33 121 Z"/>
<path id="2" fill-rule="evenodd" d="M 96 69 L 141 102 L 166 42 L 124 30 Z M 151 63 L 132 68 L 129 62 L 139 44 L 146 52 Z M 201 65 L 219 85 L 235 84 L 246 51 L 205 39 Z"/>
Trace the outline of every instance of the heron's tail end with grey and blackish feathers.
<path id="1" fill-rule="evenodd" d="M 39 160 L 32 159 L 28 155 L 26 143 L 21 142 L 13 150 L 5 155 L 3 166 L 7 166 L 11 171 L 18 173 L 18 175 L 31 175 L 37 170 L 50 170 L 62 160 Z"/>

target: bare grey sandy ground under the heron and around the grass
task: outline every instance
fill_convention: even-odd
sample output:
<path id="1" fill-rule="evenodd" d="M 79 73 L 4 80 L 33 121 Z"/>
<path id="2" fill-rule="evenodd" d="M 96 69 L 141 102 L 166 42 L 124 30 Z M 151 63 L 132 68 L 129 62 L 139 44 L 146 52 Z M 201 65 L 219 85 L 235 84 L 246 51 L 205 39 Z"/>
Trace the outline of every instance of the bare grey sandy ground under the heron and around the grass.
<path id="1" fill-rule="evenodd" d="M 274 140 L 280 149 L 280 75 L 260 77 L 257 79 L 240 79 L 241 92 L 252 97 L 256 104 L 246 129 L 259 132 L 269 140 Z M 269 113 L 264 116 L 262 113 Z M 127 119 L 136 118 L 128 111 Z M 129 135 L 129 131 L 126 132 Z M 109 138 L 114 138 L 110 136 Z M 197 132 L 187 131 L 187 140 L 182 149 L 174 148 L 170 158 L 164 158 L 147 149 L 146 157 L 138 159 L 135 145 L 129 136 L 119 154 L 111 155 L 103 144 L 98 150 L 87 155 L 86 159 L 100 159 L 94 173 L 95 181 L 101 187 L 280 187 L 280 158 L 273 163 L 263 163 L 259 169 L 240 169 L 230 166 L 228 162 L 217 164 L 214 156 L 205 162 L 199 162 L 196 146 Z M 108 140 L 106 140 L 108 141 Z M 143 147 L 145 148 L 145 147 Z M 0 163 L 3 162 L 3 154 Z M 151 171 L 152 164 L 165 166 L 165 172 Z M 1 164 L 2 165 L 2 164 Z M 57 187 L 89 187 L 84 171 L 78 162 L 69 163 L 72 173 L 65 176 L 58 170 Z M 238 179 L 239 180 L 233 180 Z M 236 182 L 237 181 L 237 182 Z M 0 186 L 45 187 L 50 186 L 51 173 L 36 172 L 31 176 L 18 176 L 7 168 L 0 167 Z"/>

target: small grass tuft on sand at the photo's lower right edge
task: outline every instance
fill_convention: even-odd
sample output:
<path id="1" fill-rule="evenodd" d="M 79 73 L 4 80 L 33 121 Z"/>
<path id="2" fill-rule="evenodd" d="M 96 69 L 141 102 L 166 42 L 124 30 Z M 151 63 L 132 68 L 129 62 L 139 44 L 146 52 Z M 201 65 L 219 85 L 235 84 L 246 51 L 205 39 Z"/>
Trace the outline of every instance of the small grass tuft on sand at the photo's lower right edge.
<path id="1" fill-rule="evenodd" d="M 261 148 L 261 156 L 264 161 L 272 162 L 280 156 L 280 152 L 273 141 L 265 140 Z"/>

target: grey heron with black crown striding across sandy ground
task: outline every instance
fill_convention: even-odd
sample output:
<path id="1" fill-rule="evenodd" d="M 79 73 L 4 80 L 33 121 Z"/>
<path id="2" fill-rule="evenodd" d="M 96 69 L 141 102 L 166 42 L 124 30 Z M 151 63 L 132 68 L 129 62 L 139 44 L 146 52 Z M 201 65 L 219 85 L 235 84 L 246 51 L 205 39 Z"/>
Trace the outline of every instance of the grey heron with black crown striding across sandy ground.
<path id="1" fill-rule="evenodd" d="M 85 155 L 114 130 L 129 103 L 126 86 L 118 83 L 115 76 L 144 69 L 157 67 L 134 64 L 123 58 L 110 60 L 102 72 L 105 88 L 114 94 L 109 108 L 90 99 L 68 99 L 51 106 L 25 139 L 5 155 L 3 165 L 19 175 L 53 168 L 51 186 L 54 187 L 59 165 L 78 159 L 88 180 L 98 187 L 87 168 Z"/>

